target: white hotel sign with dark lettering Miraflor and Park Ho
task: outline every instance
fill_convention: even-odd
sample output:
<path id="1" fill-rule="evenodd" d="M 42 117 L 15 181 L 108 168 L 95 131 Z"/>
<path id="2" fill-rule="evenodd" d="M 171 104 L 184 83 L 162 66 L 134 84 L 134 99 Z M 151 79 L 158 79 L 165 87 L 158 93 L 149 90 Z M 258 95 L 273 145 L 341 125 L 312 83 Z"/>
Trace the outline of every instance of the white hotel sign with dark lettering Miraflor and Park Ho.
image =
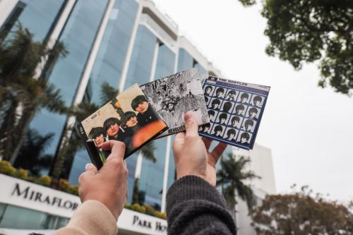
<path id="1" fill-rule="evenodd" d="M 0 174 L 0 203 L 16 205 L 61 217 L 72 217 L 80 198 L 52 188 Z M 124 209 L 118 219 L 119 230 L 142 234 L 167 234 L 167 221 Z"/>

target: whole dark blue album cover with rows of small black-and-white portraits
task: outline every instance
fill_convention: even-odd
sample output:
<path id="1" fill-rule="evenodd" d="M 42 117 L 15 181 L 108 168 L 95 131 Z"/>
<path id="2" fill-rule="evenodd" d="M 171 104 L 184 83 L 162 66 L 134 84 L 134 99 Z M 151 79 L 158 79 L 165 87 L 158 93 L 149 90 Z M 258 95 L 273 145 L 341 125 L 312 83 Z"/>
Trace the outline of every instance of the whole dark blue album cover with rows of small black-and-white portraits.
<path id="1" fill-rule="evenodd" d="M 203 92 L 210 124 L 201 126 L 199 134 L 252 149 L 270 87 L 209 76 Z"/>

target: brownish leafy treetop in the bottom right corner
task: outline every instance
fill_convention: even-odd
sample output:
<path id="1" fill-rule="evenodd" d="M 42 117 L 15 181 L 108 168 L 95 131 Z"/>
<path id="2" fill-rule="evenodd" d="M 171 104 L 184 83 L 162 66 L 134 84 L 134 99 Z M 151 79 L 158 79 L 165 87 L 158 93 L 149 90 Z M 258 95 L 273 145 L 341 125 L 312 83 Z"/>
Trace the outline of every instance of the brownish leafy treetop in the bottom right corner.
<path id="1" fill-rule="evenodd" d="M 352 204 L 342 205 L 312 195 L 307 187 L 297 193 L 267 195 L 253 210 L 258 235 L 353 234 Z"/>

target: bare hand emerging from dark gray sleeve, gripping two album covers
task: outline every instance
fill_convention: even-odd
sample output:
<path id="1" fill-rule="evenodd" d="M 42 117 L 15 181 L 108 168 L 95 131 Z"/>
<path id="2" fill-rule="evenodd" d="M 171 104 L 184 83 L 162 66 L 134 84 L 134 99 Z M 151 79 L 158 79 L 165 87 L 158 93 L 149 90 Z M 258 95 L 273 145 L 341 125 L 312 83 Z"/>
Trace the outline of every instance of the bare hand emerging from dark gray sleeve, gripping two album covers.
<path id="1" fill-rule="evenodd" d="M 177 179 L 194 175 L 216 185 L 215 164 L 227 145 L 219 143 L 212 152 L 208 149 L 212 140 L 198 135 L 198 123 L 192 113 L 184 114 L 186 132 L 177 133 L 174 138 L 173 152 L 177 169 Z"/>

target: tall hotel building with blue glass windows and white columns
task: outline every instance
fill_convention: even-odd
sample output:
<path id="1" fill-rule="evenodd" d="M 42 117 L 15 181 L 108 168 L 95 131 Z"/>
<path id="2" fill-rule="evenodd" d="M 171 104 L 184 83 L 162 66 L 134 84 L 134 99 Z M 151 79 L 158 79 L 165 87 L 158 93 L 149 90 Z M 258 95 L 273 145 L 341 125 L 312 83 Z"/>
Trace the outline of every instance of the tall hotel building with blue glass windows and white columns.
<path id="1" fill-rule="evenodd" d="M 200 74 L 222 76 L 189 40 L 179 35 L 177 25 L 149 0 L 0 0 L 0 32 L 14 30 L 18 23 L 28 28 L 34 40 L 46 42 L 49 48 L 56 42 L 64 43 L 68 51 L 66 58 L 59 59 L 50 68 L 41 66 L 37 72 L 61 90 L 67 106 L 83 101 L 100 104 L 104 83 L 122 91 L 134 83 L 148 83 L 192 67 L 198 68 Z M 66 129 L 75 123 L 75 119 L 47 109 L 41 109 L 33 117 L 30 130 L 40 136 L 51 136 L 36 156 L 38 159 L 49 156 L 52 162 L 40 169 L 41 175 L 52 174 Z M 73 132 L 71 138 L 78 135 Z M 172 141 L 173 136 L 153 141 L 155 163 L 140 152 L 126 159 L 128 203 L 131 203 L 133 184 L 138 178 L 143 203 L 165 211 L 167 189 L 175 179 Z M 227 147 L 227 152 L 233 151 L 232 147 Z M 87 152 L 76 150 L 65 160 L 61 177 L 77 184 L 88 162 Z M 11 163 L 16 163 L 16 156 Z M 273 172 L 272 162 L 268 164 Z M 258 170 L 261 171 L 261 167 Z M 274 182 L 273 178 L 270 181 Z M 17 229 L 44 229 L 41 232 L 50 234 L 51 229 L 68 222 L 73 205 L 79 203 L 76 196 L 4 175 L 0 175 L 0 184 L 4 186 L 0 193 L 0 234 L 20 234 Z M 273 193 L 275 188 L 270 184 L 268 188 L 261 185 L 258 188 Z M 57 210 L 52 205 L 30 202 L 22 193 L 27 188 L 49 197 L 60 197 L 71 206 Z M 241 224 L 240 212 L 237 216 Z M 166 234 L 163 219 L 125 209 L 121 217 L 125 219 L 119 219 L 119 234 Z M 248 226 L 249 221 L 244 218 Z M 139 227 L 136 219 L 150 222 L 151 228 Z"/>

